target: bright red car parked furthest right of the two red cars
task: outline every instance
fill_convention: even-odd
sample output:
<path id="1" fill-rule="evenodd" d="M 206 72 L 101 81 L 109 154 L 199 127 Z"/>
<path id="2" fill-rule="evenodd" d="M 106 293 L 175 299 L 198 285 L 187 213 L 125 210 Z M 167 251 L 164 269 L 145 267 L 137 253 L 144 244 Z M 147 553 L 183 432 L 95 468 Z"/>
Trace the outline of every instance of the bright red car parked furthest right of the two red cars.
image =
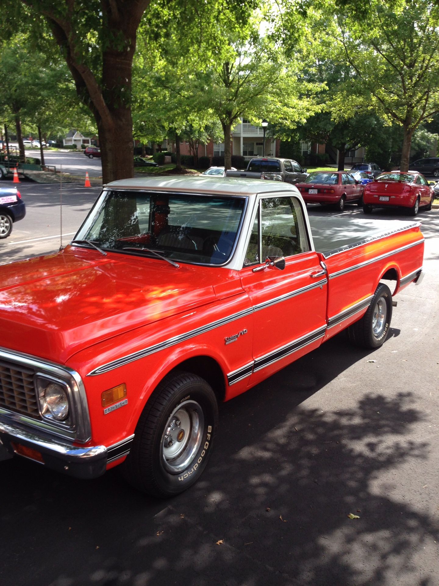
<path id="1" fill-rule="evenodd" d="M 365 186 L 363 212 L 370 214 L 374 207 L 405 207 L 411 216 L 416 216 L 420 207 L 431 210 L 433 200 L 434 189 L 424 175 L 391 171 L 381 173 Z"/>

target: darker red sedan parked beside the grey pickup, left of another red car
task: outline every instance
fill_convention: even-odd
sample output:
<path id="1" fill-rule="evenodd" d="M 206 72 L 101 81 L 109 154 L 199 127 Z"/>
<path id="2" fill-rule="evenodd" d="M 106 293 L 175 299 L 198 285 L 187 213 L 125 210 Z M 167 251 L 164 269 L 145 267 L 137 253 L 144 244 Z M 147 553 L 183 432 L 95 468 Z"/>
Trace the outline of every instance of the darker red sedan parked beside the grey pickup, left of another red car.
<path id="1" fill-rule="evenodd" d="M 363 186 L 343 171 L 314 171 L 296 187 L 305 203 L 334 203 L 339 212 L 345 203 L 362 204 Z"/>

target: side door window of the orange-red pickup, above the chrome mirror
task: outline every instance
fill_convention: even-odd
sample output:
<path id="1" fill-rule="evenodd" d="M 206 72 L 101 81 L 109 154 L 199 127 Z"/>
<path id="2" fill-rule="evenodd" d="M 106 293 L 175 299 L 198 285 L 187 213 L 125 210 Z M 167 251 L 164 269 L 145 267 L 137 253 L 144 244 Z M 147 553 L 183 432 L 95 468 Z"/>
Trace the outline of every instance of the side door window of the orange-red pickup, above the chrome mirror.
<path id="1" fill-rule="evenodd" d="M 244 264 L 263 263 L 269 256 L 288 257 L 308 250 L 310 250 L 310 244 L 303 213 L 297 199 L 295 197 L 261 199 Z"/>

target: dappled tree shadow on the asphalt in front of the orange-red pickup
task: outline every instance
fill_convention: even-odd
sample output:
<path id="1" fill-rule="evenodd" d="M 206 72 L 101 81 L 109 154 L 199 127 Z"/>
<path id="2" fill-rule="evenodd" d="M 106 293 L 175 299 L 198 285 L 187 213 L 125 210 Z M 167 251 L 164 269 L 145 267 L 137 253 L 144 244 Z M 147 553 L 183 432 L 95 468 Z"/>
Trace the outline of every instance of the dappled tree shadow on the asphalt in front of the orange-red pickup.
<path id="1" fill-rule="evenodd" d="M 116 471 L 85 482 L 4 462 L 0 582 L 433 586 L 421 556 L 437 520 L 394 493 L 403 466 L 428 455 L 411 393 L 371 390 L 323 411 L 325 385 L 358 360 L 375 369 L 369 356 L 337 336 L 224 404 L 208 469 L 171 500 Z"/>

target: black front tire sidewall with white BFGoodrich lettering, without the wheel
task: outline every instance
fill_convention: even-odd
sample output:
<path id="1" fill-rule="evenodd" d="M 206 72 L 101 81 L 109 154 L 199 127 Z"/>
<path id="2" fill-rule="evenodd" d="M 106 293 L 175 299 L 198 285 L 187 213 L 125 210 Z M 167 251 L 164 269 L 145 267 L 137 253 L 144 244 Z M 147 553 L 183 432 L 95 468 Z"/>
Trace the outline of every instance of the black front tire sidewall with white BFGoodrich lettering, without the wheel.
<path id="1" fill-rule="evenodd" d="M 161 461 L 164 427 L 173 410 L 178 407 L 179 404 L 188 400 L 196 401 L 203 409 L 204 430 L 200 447 L 190 464 L 180 473 L 173 474 L 164 469 Z M 202 380 L 191 381 L 190 384 L 183 385 L 167 402 L 157 425 L 155 438 L 153 440 L 152 454 L 153 476 L 155 476 L 156 483 L 159 485 L 160 490 L 166 493 L 167 496 L 173 494 L 177 495 L 180 492 L 183 492 L 183 490 L 186 490 L 198 480 L 210 458 L 217 426 L 217 400 L 210 386 Z"/>

